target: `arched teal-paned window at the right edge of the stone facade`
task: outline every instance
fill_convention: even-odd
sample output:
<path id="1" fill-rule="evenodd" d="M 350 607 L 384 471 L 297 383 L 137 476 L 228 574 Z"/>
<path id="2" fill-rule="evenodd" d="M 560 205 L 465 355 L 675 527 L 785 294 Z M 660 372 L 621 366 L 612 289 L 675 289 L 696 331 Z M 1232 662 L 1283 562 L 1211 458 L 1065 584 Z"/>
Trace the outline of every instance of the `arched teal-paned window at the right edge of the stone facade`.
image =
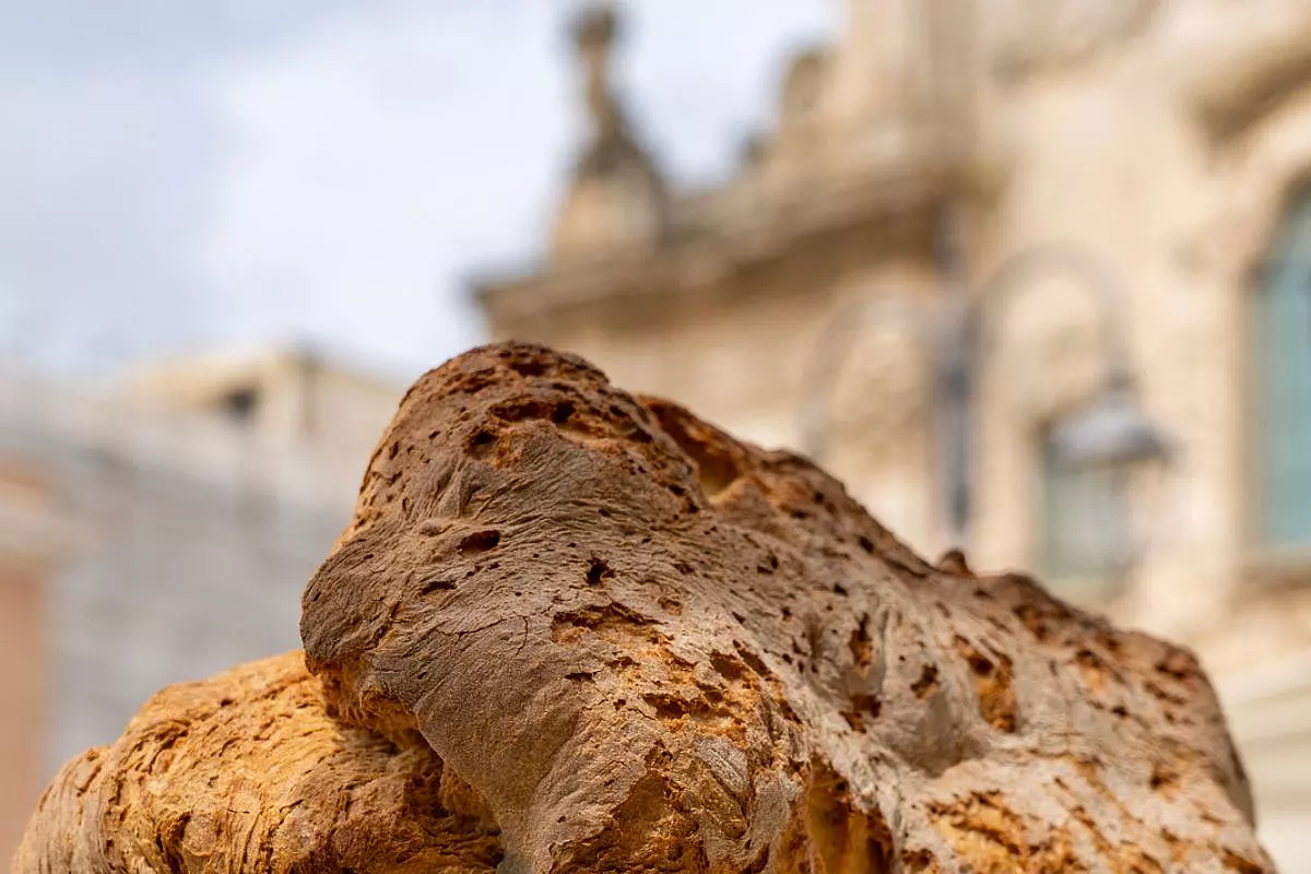
<path id="1" fill-rule="evenodd" d="M 1260 546 L 1311 548 L 1311 189 L 1273 240 L 1252 328 L 1252 528 Z"/>

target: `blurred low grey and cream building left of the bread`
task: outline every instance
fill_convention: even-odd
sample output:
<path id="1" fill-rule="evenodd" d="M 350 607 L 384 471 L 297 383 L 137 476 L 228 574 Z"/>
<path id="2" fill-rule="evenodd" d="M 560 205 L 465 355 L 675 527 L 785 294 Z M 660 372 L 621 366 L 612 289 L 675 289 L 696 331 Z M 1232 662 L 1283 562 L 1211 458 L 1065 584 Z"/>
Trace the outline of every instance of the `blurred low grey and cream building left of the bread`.
<path id="1" fill-rule="evenodd" d="M 300 645 L 401 390 L 300 351 L 94 394 L 0 371 L 0 860 L 58 767 L 157 689 Z"/>

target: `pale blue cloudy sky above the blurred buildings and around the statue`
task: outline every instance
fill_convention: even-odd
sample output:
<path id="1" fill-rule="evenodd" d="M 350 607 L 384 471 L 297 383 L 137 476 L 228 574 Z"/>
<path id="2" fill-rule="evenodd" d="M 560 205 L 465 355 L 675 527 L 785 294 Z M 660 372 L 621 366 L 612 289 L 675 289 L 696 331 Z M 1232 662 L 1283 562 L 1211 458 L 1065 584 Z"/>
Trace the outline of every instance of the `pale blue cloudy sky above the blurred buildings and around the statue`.
<path id="1" fill-rule="evenodd" d="M 312 339 L 405 375 L 479 339 L 579 124 L 568 0 L 0 0 L 0 343 L 106 372 Z M 682 185 L 732 166 L 835 0 L 637 0 L 620 80 Z"/>

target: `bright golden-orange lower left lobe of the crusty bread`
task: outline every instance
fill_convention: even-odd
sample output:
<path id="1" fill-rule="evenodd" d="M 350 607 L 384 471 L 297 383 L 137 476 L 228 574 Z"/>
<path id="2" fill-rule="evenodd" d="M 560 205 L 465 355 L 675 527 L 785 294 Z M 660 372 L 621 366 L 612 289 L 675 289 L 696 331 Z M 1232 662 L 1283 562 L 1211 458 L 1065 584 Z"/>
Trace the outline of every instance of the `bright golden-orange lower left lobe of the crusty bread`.
<path id="1" fill-rule="evenodd" d="M 442 761 L 338 725 L 300 653 L 155 696 L 46 790 L 16 874 L 493 871 L 494 826 L 440 803 Z"/>

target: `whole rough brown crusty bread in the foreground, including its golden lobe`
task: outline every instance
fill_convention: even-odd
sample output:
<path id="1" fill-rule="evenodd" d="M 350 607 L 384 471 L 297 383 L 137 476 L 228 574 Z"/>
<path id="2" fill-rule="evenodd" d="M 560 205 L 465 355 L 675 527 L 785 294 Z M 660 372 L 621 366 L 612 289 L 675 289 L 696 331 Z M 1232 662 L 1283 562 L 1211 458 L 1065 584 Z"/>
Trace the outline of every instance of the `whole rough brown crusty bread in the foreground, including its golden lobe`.
<path id="1" fill-rule="evenodd" d="M 536 346 L 416 384 L 302 636 L 67 767 L 17 870 L 1273 871 L 1188 653 Z"/>

